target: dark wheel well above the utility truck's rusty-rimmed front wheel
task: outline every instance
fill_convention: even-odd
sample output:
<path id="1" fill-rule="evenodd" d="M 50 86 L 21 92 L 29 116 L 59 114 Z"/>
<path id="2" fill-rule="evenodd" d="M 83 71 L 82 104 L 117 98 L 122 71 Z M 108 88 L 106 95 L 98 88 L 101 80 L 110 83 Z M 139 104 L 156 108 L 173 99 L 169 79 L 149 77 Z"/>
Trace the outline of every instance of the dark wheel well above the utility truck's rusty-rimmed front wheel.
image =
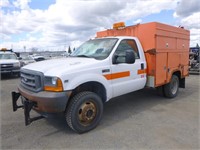
<path id="1" fill-rule="evenodd" d="M 83 92 L 83 91 L 94 92 L 101 97 L 103 102 L 106 101 L 106 89 L 105 89 L 105 87 L 101 83 L 95 82 L 95 81 L 86 82 L 86 83 L 79 85 L 77 88 L 75 88 L 72 91 L 70 98 L 73 97 L 74 95 L 76 95 L 77 93 L 80 93 L 80 92 Z"/>

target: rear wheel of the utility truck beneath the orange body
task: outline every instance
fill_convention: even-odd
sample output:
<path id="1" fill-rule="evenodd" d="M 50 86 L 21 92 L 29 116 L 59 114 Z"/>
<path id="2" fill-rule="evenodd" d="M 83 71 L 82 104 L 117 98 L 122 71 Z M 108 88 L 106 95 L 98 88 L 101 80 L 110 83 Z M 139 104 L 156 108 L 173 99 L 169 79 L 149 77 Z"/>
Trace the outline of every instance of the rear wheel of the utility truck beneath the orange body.
<path id="1" fill-rule="evenodd" d="M 164 85 L 164 94 L 168 98 L 174 98 L 179 92 L 179 78 L 172 75 L 171 81 Z"/>

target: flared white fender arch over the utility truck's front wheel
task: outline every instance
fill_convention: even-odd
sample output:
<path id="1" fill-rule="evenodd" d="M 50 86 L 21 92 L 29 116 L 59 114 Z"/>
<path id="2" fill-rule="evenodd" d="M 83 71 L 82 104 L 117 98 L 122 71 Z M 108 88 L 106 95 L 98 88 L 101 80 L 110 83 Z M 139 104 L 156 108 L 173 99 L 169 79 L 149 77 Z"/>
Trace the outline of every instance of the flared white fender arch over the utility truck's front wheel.
<path id="1" fill-rule="evenodd" d="M 111 83 L 109 83 L 111 81 L 108 81 L 103 75 L 99 74 L 90 73 L 90 74 L 78 75 L 76 77 L 70 78 L 70 81 L 68 83 L 65 83 L 63 86 L 64 90 L 73 90 L 81 84 L 93 81 L 99 82 L 106 89 L 106 94 L 107 94 L 106 101 L 112 98 L 112 86 Z"/>

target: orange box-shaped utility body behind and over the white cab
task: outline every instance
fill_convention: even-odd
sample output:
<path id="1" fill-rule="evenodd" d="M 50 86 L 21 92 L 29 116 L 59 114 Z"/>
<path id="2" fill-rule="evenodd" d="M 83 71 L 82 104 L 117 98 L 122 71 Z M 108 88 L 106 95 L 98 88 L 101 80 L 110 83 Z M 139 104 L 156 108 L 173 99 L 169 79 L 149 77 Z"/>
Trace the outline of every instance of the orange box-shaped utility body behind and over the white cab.
<path id="1" fill-rule="evenodd" d="M 134 36 L 140 40 L 147 61 L 147 78 L 153 78 L 154 87 L 169 83 L 177 71 L 181 78 L 188 76 L 188 30 L 150 22 L 121 28 L 115 25 L 113 29 L 97 32 L 97 38 L 108 36 Z"/>

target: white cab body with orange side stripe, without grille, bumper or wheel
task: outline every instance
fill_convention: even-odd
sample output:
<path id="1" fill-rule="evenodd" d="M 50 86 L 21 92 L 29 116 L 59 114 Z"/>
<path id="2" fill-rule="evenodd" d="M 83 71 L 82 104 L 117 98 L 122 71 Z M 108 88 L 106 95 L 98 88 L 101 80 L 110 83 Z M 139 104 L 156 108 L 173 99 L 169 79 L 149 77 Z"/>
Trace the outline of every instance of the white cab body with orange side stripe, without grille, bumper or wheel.
<path id="1" fill-rule="evenodd" d="M 125 52 L 133 51 L 133 48 L 135 62 L 126 63 Z M 146 83 L 145 72 L 138 74 L 138 70 L 145 69 L 144 53 L 137 38 L 109 37 L 87 41 L 68 58 L 25 66 L 22 68 L 21 79 L 25 78 L 23 70 L 40 72 L 48 80 L 59 78 L 64 91 L 73 90 L 87 82 L 98 82 L 105 87 L 105 101 L 108 101 L 110 98 L 143 88 Z"/>

